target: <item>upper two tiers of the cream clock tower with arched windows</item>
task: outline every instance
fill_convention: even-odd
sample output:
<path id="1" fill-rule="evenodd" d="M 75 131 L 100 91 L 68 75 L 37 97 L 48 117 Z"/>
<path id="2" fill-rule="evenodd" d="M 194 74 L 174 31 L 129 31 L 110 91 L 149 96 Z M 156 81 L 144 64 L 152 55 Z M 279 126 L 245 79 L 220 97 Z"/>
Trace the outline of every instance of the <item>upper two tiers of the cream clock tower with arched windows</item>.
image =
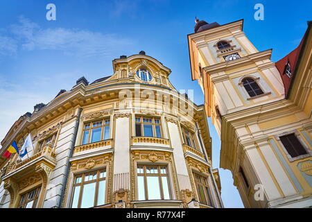
<path id="1" fill-rule="evenodd" d="M 220 25 L 196 19 L 188 35 L 192 80 L 205 94 L 207 116 L 220 135 L 225 114 L 284 98 L 284 85 L 270 60 L 243 32 L 243 19 Z"/>

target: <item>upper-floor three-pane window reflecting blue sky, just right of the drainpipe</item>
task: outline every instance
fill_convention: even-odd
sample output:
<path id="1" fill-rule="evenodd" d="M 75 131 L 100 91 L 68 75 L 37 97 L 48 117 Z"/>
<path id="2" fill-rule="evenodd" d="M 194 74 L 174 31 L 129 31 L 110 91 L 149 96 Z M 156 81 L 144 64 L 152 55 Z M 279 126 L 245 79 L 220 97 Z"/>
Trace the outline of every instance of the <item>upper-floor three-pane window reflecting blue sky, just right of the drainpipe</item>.
<path id="1" fill-rule="evenodd" d="M 82 145 L 110 139 L 110 119 L 86 123 L 83 128 Z"/>

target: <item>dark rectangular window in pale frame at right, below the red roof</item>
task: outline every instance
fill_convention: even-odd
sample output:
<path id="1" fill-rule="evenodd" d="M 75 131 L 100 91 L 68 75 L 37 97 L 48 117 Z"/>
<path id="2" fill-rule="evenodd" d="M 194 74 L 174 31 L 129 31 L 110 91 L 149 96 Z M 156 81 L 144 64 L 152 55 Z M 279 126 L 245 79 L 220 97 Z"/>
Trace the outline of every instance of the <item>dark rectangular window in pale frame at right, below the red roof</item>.
<path id="1" fill-rule="evenodd" d="M 279 137 L 279 139 L 281 139 L 281 143 L 284 145 L 286 151 L 289 155 L 291 155 L 291 157 L 307 154 L 305 148 L 295 136 L 295 133 Z"/>

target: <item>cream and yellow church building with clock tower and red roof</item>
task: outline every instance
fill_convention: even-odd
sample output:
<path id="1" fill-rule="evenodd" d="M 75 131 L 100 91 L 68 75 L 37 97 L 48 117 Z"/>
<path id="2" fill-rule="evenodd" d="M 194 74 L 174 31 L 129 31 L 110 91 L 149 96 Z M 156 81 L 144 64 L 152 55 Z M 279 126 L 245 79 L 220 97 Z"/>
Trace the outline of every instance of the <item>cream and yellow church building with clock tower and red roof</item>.
<path id="1" fill-rule="evenodd" d="M 188 35 L 191 76 L 221 139 L 220 167 L 232 171 L 245 207 L 312 206 L 311 22 L 279 62 L 258 51 L 243 20 L 196 21 Z"/>

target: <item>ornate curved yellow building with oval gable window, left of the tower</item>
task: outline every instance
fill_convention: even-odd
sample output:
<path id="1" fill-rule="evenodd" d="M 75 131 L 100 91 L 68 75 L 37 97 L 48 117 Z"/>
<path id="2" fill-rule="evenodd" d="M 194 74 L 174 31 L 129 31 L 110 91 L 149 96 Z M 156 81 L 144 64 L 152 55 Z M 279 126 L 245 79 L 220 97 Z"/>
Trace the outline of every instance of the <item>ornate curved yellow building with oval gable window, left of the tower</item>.
<path id="1" fill-rule="evenodd" d="M 1 142 L 0 208 L 223 207 L 203 105 L 144 51 L 35 106 Z M 2 154 L 31 133 L 33 148 Z"/>

